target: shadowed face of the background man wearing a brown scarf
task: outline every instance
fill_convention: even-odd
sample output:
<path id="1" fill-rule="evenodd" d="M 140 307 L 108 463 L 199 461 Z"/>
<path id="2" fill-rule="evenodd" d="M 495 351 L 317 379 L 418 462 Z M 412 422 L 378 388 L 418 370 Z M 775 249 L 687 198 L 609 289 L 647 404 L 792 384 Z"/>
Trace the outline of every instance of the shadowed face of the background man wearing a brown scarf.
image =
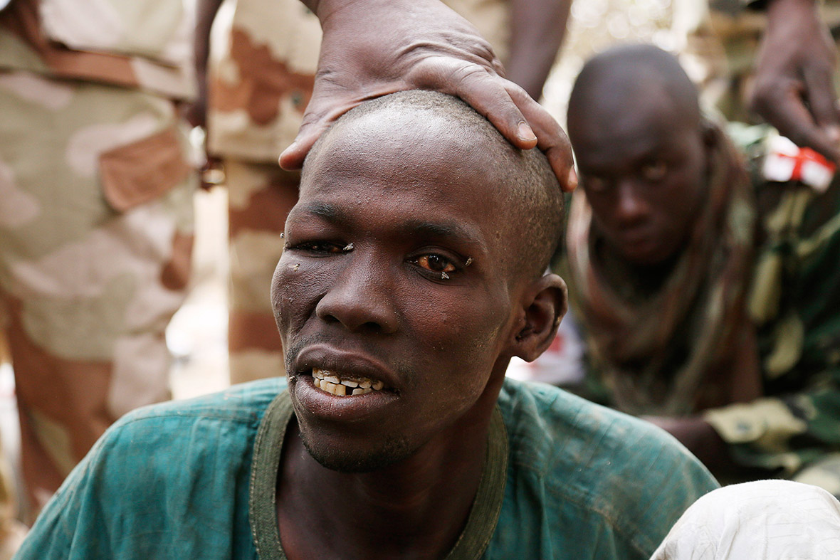
<path id="1" fill-rule="evenodd" d="M 640 81 L 655 83 L 642 72 Z M 585 87 L 569 131 L 596 227 L 617 257 L 642 269 L 685 247 L 706 193 L 709 139 L 690 100 L 658 86 L 628 97 L 610 80 Z"/>

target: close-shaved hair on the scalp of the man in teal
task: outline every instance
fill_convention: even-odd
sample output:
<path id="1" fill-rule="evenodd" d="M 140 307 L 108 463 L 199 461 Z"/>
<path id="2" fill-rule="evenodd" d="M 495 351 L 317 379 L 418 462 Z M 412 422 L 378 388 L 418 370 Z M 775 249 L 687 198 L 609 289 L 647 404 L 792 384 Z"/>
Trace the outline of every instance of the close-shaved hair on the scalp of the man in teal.
<path id="1" fill-rule="evenodd" d="M 375 138 L 354 132 L 355 123 L 369 118 L 381 120 L 385 125 Z M 486 175 L 486 196 L 495 196 L 498 212 L 507 217 L 507 227 L 500 234 L 517 239 L 512 244 L 517 249 L 508 269 L 523 272 L 528 279 L 542 275 L 554 254 L 563 225 L 563 196 L 554 172 L 542 152 L 515 148 L 486 118 L 456 97 L 414 90 L 362 103 L 323 134 L 307 162 L 332 149 L 333 139 L 341 137 L 346 141 L 348 133 L 354 140 L 354 149 L 363 154 L 368 150 L 375 152 L 377 145 L 391 142 L 391 133 L 398 141 L 396 137 L 406 129 L 411 133 L 416 130 L 420 142 L 428 142 L 429 136 L 445 138 L 450 143 L 449 151 L 444 154 L 447 160 L 480 160 Z M 424 160 L 412 160 L 407 154 L 403 165 L 426 167 L 427 172 L 433 173 L 439 164 L 436 160 L 434 154 L 426 154 Z M 364 170 L 347 172 L 364 173 Z M 305 184 L 306 165 L 303 173 L 302 184 Z"/>

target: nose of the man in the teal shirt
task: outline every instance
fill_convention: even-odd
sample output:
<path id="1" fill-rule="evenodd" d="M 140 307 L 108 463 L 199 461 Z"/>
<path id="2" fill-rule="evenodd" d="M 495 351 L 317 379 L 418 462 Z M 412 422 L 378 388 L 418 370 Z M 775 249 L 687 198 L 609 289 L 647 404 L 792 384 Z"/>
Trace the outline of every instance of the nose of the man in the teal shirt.
<path id="1" fill-rule="evenodd" d="M 355 249 L 348 263 L 335 276 L 315 312 L 326 322 L 339 322 L 350 332 L 396 331 L 393 284 L 389 264 Z"/>

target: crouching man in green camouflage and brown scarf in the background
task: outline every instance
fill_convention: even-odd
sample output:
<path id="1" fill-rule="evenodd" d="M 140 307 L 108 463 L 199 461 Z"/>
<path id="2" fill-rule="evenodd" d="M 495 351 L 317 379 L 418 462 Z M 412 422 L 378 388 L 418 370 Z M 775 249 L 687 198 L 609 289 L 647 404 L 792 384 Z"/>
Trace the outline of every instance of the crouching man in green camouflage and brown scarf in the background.
<path id="1" fill-rule="evenodd" d="M 601 399 L 652 416 L 723 479 L 840 494 L 836 182 L 765 179 L 771 131 L 733 128 L 744 160 L 653 46 L 590 60 L 568 123 L 583 186 L 568 280 Z"/>

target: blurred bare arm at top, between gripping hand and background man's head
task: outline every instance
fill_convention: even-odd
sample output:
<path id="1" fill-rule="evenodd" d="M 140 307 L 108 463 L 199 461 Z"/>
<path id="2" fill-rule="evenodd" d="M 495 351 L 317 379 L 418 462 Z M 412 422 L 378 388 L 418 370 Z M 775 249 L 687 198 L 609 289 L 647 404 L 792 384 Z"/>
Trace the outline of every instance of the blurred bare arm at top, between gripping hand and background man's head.
<path id="1" fill-rule="evenodd" d="M 539 99 L 566 32 L 571 0 L 511 0 L 507 79 Z"/>

